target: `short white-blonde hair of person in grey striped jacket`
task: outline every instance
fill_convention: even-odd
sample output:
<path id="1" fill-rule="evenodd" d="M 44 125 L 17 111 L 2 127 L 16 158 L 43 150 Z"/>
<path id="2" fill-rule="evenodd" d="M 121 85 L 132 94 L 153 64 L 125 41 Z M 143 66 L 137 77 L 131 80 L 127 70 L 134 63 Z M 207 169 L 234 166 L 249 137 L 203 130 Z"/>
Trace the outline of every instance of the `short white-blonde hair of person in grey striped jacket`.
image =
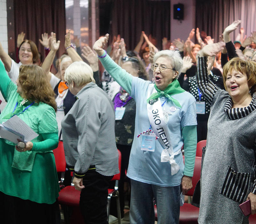
<path id="1" fill-rule="evenodd" d="M 89 82 L 95 83 L 92 68 L 84 61 L 75 61 L 66 69 L 64 79 L 71 83 L 81 86 Z"/>

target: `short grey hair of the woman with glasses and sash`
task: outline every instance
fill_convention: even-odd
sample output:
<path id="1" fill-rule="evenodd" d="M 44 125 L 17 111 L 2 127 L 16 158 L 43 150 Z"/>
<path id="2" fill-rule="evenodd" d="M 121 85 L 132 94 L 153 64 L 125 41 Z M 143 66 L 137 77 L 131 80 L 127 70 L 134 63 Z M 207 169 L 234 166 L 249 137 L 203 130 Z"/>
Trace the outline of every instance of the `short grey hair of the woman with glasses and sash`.
<path id="1" fill-rule="evenodd" d="M 171 60 L 171 66 L 172 68 L 175 69 L 179 74 L 176 76 L 174 79 L 178 79 L 180 76 L 180 71 L 183 66 L 183 60 L 180 56 L 179 51 L 171 51 L 171 50 L 164 50 L 164 51 L 159 51 L 155 54 L 154 56 L 154 64 L 156 63 L 156 60 L 160 57 L 166 57 Z"/>

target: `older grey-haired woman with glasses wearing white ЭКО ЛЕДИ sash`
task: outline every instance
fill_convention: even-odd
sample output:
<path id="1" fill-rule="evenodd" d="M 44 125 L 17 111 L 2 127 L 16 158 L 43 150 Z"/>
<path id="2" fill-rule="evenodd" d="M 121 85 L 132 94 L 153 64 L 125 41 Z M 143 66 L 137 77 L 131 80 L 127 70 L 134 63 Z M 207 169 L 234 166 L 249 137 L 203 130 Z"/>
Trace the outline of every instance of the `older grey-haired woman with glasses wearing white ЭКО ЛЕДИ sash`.
<path id="1" fill-rule="evenodd" d="M 154 223 L 153 198 L 159 223 L 179 223 L 180 185 L 191 187 L 196 154 L 196 101 L 177 80 L 182 68 L 175 51 L 156 53 L 151 69 L 155 84 L 119 67 L 103 47 L 108 34 L 93 49 L 108 73 L 136 101 L 135 133 L 127 176 L 131 179 L 131 223 Z M 185 166 L 181 154 L 184 144 Z"/>

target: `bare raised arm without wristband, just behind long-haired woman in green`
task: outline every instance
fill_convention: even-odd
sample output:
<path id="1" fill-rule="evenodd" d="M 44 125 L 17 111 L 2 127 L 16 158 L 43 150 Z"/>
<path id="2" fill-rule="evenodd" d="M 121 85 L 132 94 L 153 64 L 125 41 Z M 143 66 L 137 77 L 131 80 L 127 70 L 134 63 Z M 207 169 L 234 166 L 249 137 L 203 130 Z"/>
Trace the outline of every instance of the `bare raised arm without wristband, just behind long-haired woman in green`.
<path id="1" fill-rule="evenodd" d="M 59 46 L 60 46 L 60 41 L 59 40 L 56 41 L 56 34 L 53 32 L 51 33 L 50 42 L 51 42 L 51 51 L 48 53 L 48 55 L 44 59 L 44 62 L 41 66 L 43 68 L 49 82 L 52 77 L 51 74 L 49 73 L 51 66 L 52 66 L 52 62 L 53 62 L 56 52 L 58 51 Z"/>

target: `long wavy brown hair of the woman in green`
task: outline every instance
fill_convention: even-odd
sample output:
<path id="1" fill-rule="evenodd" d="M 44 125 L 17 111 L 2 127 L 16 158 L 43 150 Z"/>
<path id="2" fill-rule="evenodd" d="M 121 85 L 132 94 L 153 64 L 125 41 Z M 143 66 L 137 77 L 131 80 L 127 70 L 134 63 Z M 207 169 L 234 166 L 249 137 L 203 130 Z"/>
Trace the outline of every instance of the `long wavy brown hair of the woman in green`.
<path id="1" fill-rule="evenodd" d="M 38 65 L 21 65 L 18 79 L 23 91 L 21 95 L 23 98 L 35 101 L 35 103 L 46 103 L 52 106 L 55 112 L 57 111 L 55 94 L 41 67 Z"/>

